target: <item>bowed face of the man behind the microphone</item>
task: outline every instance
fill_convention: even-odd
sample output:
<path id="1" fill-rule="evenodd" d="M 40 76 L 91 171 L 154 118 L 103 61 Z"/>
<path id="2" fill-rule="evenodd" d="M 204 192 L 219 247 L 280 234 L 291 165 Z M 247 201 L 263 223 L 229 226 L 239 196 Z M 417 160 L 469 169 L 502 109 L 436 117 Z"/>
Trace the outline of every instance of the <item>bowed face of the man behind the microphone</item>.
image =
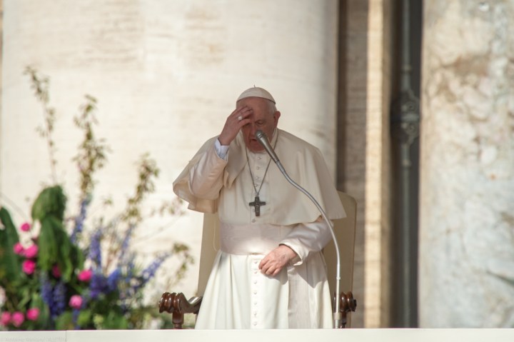
<path id="1" fill-rule="evenodd" d="M 271 102 L 260 97 L 247 97 L 237 102 L 237 108 L 248 106 L 253 113 L 248 116 L 251 120 L 249 124 L 243 126 L 243 137 L 246 147 L 252 152 L 264 151 L 263 146 L 257 140 L 255 134 L 259 129 L 271 140 L 280 117 L 280 111 L 273 111 Z"/>

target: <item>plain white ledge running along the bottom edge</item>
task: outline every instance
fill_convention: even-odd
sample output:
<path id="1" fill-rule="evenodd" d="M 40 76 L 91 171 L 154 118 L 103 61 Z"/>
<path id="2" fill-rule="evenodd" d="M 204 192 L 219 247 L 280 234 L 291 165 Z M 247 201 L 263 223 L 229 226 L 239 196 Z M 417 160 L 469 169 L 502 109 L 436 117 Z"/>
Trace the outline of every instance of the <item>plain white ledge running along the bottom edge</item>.
<path id="1" fill-rule="evenodd" d="M 0 342 L 513 342 L 514 329 L 117 330 L 1 332 Z"/>

